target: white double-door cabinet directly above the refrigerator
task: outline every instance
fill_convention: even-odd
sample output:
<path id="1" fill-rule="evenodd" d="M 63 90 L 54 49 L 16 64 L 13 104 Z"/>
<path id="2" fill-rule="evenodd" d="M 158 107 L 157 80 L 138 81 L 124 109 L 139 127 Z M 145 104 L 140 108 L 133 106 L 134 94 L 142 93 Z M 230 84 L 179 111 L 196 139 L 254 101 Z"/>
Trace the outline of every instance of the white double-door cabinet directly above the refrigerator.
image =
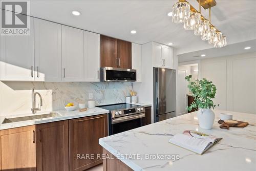
<path id="1" fill-rule="evenodd" d="M 173 48 L 153 42 L 153 66 L 174 69 Z"/>

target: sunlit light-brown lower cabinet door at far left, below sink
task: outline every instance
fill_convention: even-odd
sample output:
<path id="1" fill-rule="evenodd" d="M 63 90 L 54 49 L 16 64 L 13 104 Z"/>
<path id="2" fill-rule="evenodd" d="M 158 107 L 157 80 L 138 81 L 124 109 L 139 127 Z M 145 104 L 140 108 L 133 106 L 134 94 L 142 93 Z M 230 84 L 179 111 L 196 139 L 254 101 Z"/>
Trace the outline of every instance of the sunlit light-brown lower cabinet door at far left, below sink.
<path id="1" fill-rule="evenodd" d="M 35 126 L 0 131 L 0 170 L 36 171 Z"/>

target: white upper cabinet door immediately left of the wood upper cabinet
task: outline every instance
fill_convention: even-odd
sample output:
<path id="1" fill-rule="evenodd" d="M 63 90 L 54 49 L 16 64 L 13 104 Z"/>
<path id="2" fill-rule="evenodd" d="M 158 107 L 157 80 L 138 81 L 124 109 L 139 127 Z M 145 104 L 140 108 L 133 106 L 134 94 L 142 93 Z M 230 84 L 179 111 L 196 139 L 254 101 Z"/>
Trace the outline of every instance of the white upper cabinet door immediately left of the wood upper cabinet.
<path id="1" fill-rule="evenodd" d="M 100 81 L 100 35 L 84 31 L 84 81 Z"/>

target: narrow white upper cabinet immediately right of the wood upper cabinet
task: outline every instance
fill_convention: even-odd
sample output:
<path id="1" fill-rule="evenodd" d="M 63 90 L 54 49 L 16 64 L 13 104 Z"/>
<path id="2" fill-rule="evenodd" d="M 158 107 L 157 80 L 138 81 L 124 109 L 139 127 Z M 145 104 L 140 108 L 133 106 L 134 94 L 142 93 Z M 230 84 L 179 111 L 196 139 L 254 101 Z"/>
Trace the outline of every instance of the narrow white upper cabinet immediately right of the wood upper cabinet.
<path id="1" fill-rule="evenodd" d="M 136 70 L 137 82 L 142 78 L 141 45 L 132 43 L 132 69 Z"/>

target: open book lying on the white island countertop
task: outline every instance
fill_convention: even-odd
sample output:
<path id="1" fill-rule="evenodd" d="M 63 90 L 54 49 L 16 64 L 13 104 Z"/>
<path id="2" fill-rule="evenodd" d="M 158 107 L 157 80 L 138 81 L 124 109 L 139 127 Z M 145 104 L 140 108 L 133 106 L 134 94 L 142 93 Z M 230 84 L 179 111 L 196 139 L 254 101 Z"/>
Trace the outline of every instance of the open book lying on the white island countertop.
<path id="1" fill-rule="evenodd" d="M 197 131 L 186 130 L 183 134 L 176 134 L 168 142 L 201 155 L 221 139 L 222 138 L 217 138 Z"/>

